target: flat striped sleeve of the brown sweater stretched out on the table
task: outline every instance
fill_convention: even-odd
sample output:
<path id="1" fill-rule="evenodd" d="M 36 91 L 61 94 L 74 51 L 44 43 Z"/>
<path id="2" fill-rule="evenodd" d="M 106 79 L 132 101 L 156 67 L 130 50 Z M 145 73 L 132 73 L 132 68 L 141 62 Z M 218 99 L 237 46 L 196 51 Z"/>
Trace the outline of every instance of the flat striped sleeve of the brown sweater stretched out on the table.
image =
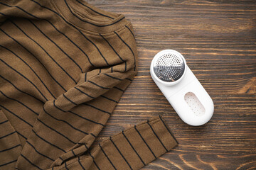
<path id="1" fill-rule="evenodd" d="M 56 170 L 138 170 L 162 154 L 169 152 L 176 145 L 178 142 L 172 135 L 169 126 L 159 115 L 108 137 L 99 145 L 79 154 L 78 157 L 66 162 L 62 162 L 60 159 L 58 166 L 53 164 L 52 167 Z M 80 146 L 73 150 L 75 154 L 79 153 L 82 147 L 88 148 L 86 143 Z"/>

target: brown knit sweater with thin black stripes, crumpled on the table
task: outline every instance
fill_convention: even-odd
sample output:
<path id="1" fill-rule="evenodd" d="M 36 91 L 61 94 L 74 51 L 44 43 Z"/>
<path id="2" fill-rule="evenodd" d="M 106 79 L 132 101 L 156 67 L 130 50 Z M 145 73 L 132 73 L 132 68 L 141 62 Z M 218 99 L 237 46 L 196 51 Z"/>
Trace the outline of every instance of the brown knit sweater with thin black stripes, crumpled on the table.
<path id="1" fill-rule="evenodd" d="M 0 1 L 0 169 L 140 169 L 161 116 L 91 147 L 137 74 L 132 24 L 79 0 Z"/>

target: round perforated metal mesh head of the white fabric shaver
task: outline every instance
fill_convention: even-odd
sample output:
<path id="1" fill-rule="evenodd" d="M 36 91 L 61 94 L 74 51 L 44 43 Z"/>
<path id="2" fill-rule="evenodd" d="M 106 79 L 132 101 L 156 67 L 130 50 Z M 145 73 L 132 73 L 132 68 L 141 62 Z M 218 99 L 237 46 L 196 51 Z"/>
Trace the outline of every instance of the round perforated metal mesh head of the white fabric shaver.
<path id="1" fill-rule="evenodd" d="M 154 62 L 154 73 L 162 81 L 172 82 L 180 79 L 185 71 L 185 62 L 181 56 L 166 52 Z"/>

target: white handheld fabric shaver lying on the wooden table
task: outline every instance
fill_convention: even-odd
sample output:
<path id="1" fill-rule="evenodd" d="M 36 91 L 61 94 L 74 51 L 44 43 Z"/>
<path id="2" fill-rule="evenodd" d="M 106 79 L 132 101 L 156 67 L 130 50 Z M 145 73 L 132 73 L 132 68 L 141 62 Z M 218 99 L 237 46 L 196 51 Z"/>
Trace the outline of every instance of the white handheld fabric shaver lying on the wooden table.
<path id="1" fill-rule="evenodd" d="M 181 53 L 163 50 L 154 56 L 150 74 L 179 117 L 199 126 L 213 116 L 213 100 L 186 64 Z"/>

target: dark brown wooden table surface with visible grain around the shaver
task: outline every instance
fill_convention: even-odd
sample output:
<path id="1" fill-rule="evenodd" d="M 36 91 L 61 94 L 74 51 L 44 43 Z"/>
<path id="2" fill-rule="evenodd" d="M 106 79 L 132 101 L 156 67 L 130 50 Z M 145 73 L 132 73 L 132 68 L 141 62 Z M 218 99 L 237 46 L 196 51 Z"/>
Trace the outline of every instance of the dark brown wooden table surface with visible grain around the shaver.
<path id="1" fill-rule="evenodd" d="M 256 169 L 256 1 L 91 0 L 132 22 L 139 72 L 100 133 L 164 115 L 179 142 L 149 169 Z M 149 74 L 154 55 L 174 49 L 213 98 L 209 123 L 186 125 Z"/>

